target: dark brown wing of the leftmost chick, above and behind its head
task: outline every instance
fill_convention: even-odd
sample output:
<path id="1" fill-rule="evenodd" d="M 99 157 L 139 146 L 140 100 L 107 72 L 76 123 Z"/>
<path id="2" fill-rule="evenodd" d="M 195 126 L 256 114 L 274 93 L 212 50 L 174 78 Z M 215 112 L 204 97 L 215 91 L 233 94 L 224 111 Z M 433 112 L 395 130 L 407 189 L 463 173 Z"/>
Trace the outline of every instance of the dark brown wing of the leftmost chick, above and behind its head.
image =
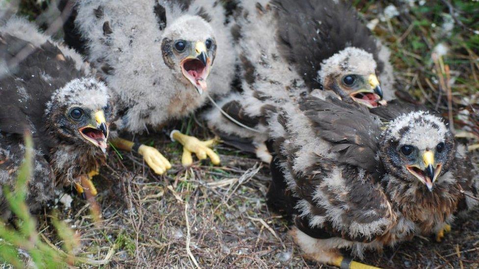
<path id="1" fill-rule="evenodd" d="M 12 58 L 23 48 L 31 47 L 33 50 L 18 65 L 10 65 L 9 72 L 0 77 L 0 131 L 23 135 L 30 130 L 36 147 L 55 147 L 45 133 L 46 104 L 55 90 L 80 77 L 81 73 L 76 69 L 74 60 L 64 56 L 50 42 L 34 48 L 9 34 L 2 34 L 1 39 L 0 57 L 9 63 L 13 63 Z"/>

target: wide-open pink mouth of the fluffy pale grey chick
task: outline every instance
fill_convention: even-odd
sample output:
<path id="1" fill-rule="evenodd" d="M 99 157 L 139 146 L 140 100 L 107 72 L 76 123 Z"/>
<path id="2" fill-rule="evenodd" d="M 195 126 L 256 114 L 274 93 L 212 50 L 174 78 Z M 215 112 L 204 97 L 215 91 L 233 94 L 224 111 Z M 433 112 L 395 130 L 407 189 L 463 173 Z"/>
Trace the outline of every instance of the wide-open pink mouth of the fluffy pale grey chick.
<path id="1" fill-rule="evenodd" d="M 209 66 L 209 60 L 204 65 L 203 62 L 196 58 L 188 58 L 181 62 L 183 75 L 196 87 L 199 94 L 206 90 L 206 77 L 208 76 Z"/>

